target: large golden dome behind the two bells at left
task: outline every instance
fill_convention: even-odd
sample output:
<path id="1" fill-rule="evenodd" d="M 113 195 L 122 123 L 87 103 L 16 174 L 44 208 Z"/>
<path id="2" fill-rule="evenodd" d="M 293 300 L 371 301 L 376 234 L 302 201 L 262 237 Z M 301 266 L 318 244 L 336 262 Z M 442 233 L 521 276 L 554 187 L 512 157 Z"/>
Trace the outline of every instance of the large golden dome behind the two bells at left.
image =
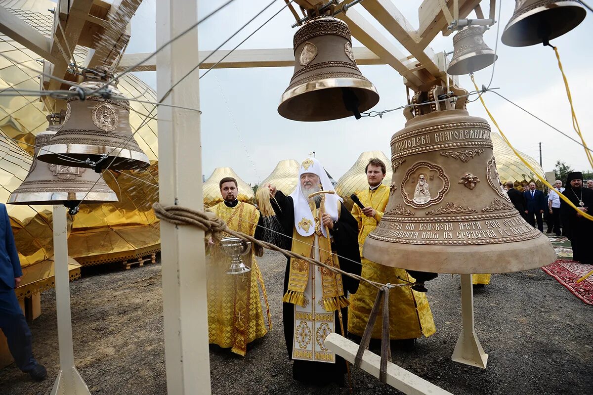
<path id="1" fill-rule="evenodd" d="M 55 2 L 0 0 L 0 6 L 50 37 L 54 17 L 48 8 L 55 8 Z M 0 89 L 39 90 L 37 77 L 42 71 L 39 56 L 4 34 L 0 34 L 0 52 L 3 55 L 0 56 Z M 83 63 L 87 53 L 87 48 L 76 46 L 76 62 Z M 117 88 L 126 97 L 156 101 L 155 91 L 132 74 L 120 78 Z M 136 130 L 152 106 L 130 101 L 130 107 L 130 126 Z M 6 202 L 27 176 L 33 155 L 31 145 L 37 133 L 47 129 L 46 115 L 38 97 L 0 97 L 0 180 L 3 187 L 0 201 Z M 158 201 L 157 120 L 149 119 L 135 139 L 151 161 L 148 171 L 109 171 L 104 178 L 120 201 L 83 204 L 72 224 L 69 223 L 69 254 L 83 265 L 130 259 L 160 249 L 159 221 L 152 211 L 152 203 Z M 51 206 L 7 205 L 7 209 L 21 265 L 37 266 L 50 259 L 53 255 Z"/>

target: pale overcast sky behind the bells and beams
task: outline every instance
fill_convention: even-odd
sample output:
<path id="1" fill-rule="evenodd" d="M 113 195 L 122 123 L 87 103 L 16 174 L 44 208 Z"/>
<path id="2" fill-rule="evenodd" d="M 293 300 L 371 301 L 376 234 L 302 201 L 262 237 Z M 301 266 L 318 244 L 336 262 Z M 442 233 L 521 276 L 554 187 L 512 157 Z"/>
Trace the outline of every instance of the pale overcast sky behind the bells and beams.
<path id="1" fill-rule="evenodd" d="M 270 0 L 237 0 L 224 12 L 200 24 L 200 50 L 214 49 L 269 2 Z M 417 27 L 417 7 L 420 1 L 393 2 L 407 20 Z M 199 1 L 200 17 L 223 3 L 224 0 Z M 503 7 L 500 17 L 502 34 L 511 17 L 514 2 L 497 3 L 502 3 Z M 235 37 L 223 48 L 234 47 L 283 5 L 283 1 L 276 1 L 267 12 L 238 34 L 238 38 Z M 374 21 L 385 37 L 403 50 L 362 5 L 355 7 Z M 484 7 L 483 9 L 488 9 L 487 4 Z M 285 9 L 240 49 L 292 47 L 292 36 L 295 33 L 295 29 L 291 28 L 293 23 L 294 17 Z M 552 44 L 559 48 L 562 56 L 585 141 L 593 146 L 593 111 L 588 106 L 591 101 L 588 93 L 593 88 L 589 77 L 593 60 L 591 37 L 593 15 L 588 12 L 581 25 L 553 40 Z M 495 48 L 496 25 L 484 34 L 484 41 L 492 49 Z M 353 46 L 361 46 L 361 43 L 353 40 Z M 435 52 L 452 50 L 452 36 L 442 37 L 439 34 L 431 47 Z M 126 52 L 149 52 L 154 49 L 155 0 L 144 0 L 132 19 L 132 39 Z M 500 94 L 576 138 L 553 50 L 541 45 L 514 48 L 499 42 L 498 55 L 492 87 L 499 87 Z M 354 117 L 349 117 L 317 123 L 284 119 L 279 116 L 277 108 L 280 95 L 292 77 L 292 71 L 292 67 L 215 69 L 200 79 L 203 173 L 206 177 L 210 176 L 215 167 L 229 166 L 244 181 L 259 182 L 273 170 L 278 161 L 301 161 L 310 151 L 315 151 L 316 157 L 337 180 L 352 166 L 362 151 L 380 149 L 390 157 L 391 136 L 403 128 L 405 122 L 401 110 L 385 114 L 383 119 L 366 117 L 355 120 Z M 361 71 L 373 82 L 381 96 L 373 110 L 391 109 L 406 103 L 402 77 L 393 68 L 385 65 L 361 66 Z M 487 84 L 491 72 L 491 67 L 476 72 L 478 84 Z M 152 87 L 156 87 L 155 72 L 137 74 Z M 461 77 L 461 85 L 467 90 L 473 89 L 467 76 Z M 538 143 L 542 142 L 544 170 L 552 170 L 556 160 L 566 161 L 575 170 L 591 168 L 581 146 L 495 94 L 486 94 L 484 99 L 515 148 L 538 160 Z M 470 103 L 468 111 L 474 116 L 487 118 L 479 101 Z"/>

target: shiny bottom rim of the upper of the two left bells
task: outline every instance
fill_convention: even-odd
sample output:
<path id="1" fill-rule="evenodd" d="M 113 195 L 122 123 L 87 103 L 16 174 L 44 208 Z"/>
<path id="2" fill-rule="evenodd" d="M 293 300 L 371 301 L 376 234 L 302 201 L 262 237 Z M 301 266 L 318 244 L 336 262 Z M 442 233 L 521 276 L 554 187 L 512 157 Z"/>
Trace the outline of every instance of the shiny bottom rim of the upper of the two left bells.
<path id="1" fill-rule="evenodd" d="M 114 150 L 119 150 L 117 155 L 110 155 Z M 150 166 L 148 155 L 142 151 L 132 151 L 132 149 L 128 148 L 92 144 L 49 144 L 39 148 L 37 160 L 45 163 L 91 168 L 90 165 L 69 161 L 62 158 L 60 155 L 70 156 L 74 159 L 82 158 L 82 160 L 85 160 L 89 155 L 101 154 L 109 155 L 105 160 L 107 164 L 111 163 L 111 161 L 114 160 L 114 157 L 116 158 L 113 165 L 111 165 L 111 168 L 114 169 L 135 169 Z M 118 167 L 119 164 L 130 164 L 133 166 Z"/>

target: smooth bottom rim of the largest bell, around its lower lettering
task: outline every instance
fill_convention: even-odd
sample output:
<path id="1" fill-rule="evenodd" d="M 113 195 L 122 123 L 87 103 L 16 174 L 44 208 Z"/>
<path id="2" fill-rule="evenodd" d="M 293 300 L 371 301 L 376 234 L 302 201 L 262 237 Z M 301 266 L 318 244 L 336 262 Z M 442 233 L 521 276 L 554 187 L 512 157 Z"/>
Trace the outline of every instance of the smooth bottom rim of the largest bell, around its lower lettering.
<path id="1" fill-rule="evenodd" d="M 383 244 L 384 243 L 384 244 Z M 383 244 L 383 245 L 381 245 Z M 547 244 L 547 245 L 546 245 Z M 484 250 L 484 246 L 488 249 Z M 547 248 L 549 247 L 549 248 Z M 397 248 L 398 254 L 406 253 L 419 256 L 417 259 L 398 260 L 393 265 L 381 262 L 381 256 L 393 257 L 393 251 L 385 251 L 387 248 Z M 429 249 L 429 250 L 428 250 Z M 525 251 L 531 251 L 533 255 L 527 261 L 517 258 Z M 425 254 L 430 252 L 431 256 L 438 257 L 439 262 L 444 262 L 441 267 L 435 267 L 433 260 L 427 260 Z M 496 262 L 496 270 L 492 267 L 483 267 L 483 259 L 477 258 L 480 254 L 487 255 L 489 262 Z M 382 241 L 368 237 L 362 251 L 362 255 L 372 262 L 380 263 L 388 267 L 398 267 L 400 269 L 420 270 L 424 272 L 452 273 L 452 274 L 479 274 L 490 273 L 512 273 L 523 270 L 537 269 L 541 266 L 549 265 L 557 259 L 550 240 L 544 234 L 530 240 L 514 241 L 498 244 L 476 244 L 476 245 L 436 245 L 427 246 L 425 244 L 405 244 Z M 459 262 L 476 262 L 467 265 L 462 269 Z M 494 266 L 494 265 L 492 265 Z"/>

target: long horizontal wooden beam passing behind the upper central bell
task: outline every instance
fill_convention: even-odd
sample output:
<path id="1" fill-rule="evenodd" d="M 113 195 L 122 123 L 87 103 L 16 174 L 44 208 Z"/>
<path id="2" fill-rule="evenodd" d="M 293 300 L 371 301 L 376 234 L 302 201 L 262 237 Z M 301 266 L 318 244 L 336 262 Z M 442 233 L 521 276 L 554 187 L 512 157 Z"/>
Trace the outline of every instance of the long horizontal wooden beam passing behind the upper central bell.
<path id="1" fill-rule="evenodd" d="M 384 60 L 372 53 L 366 47 L 353 47 L 354 56 L 358 65 L 384 65 Z M 206 56 L 210 55 L 212 51 L 204 50 L 198 52 L 198 62 L 201 62 Z M 219 50 L 214 53 L 206 62 L 202 63 L 200 68 L 209 69 L 216 62 L 221 60 L 229 50 Z M 122 72 L 132 65 L 135 65 L 140 60 L 145 59 L 148 53 L 125 53 L 122 56 L 122 61 L 116 72 Z M 227 56 L 217 69 L 225 68 L 253 68 L 253 67 L 293 67 L 295 64 L 294 50 L 292 48 L 275 48 L 275 49 L 238 49 L 234 50 L 231 55 Z M 133 71 L 155 71 L 155 58 L 151 58 L 142 65 L 133 69 Z"/>

